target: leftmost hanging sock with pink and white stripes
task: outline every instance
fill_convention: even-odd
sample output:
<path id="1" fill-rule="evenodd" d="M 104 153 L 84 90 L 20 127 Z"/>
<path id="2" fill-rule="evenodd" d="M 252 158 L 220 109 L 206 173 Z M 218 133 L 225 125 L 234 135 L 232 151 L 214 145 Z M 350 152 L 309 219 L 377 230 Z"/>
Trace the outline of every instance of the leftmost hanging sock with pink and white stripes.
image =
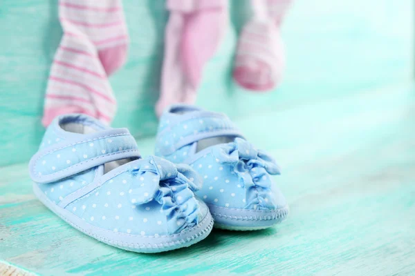
<path id="1" fill-rule="evenodd" d="M 64 36 L 50 69 L 44 117 L 79 112 L 106 123 L 116 112 L 108 76 L 127 57 L 128 34 L 120 0 L 59 0 Z"/>

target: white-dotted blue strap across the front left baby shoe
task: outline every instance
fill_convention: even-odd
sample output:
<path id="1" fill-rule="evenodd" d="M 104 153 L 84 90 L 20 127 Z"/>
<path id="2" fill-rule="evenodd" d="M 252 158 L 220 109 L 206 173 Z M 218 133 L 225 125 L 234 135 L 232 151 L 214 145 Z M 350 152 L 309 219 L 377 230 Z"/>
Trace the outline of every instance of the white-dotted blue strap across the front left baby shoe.
<path id="1" fill-rule="evenodd" d="M 126 128 L 74 137 L 40 150 L 30 159 L 33 181 L 48 183 L 107 162 L 140 158 L 136 140 Z"/>

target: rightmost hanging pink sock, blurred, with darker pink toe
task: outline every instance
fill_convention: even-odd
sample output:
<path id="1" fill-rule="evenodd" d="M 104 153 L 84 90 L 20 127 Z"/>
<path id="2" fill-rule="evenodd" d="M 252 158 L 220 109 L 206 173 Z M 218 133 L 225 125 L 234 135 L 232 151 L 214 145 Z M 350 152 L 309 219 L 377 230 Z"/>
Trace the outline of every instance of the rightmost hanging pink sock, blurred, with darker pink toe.
<path id="1" fill-rule="evenodd" d="M 251 0 L 253 17 L 241 32 L 233 72 L 243 88 L 264 92 L 281 81 L 285 56 L 279 24 L 289 1 Z"/>

